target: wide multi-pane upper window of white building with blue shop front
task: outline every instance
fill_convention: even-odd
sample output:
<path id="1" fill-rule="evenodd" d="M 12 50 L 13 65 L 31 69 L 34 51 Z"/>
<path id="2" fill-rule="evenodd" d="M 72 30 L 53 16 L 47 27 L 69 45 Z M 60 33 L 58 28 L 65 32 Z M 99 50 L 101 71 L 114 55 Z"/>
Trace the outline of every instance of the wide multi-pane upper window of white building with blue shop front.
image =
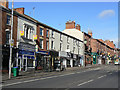
<path id="1" fill-rule="evenodd" d="M 24 37 L 27 39 L 33 39 L 34 29 L 32 26 L 24 24 Z"/>

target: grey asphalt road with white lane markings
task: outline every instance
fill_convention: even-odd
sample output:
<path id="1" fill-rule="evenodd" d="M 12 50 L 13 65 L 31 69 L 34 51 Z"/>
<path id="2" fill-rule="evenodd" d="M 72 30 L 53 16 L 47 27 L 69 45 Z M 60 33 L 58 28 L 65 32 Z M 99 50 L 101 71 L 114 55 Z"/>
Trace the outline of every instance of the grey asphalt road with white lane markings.
<path id="1" fill-rule="evenodd" d="M 101 65 L 49 77 L 3 83 L 2 88 L 118 88 L 118 66 Z"/>

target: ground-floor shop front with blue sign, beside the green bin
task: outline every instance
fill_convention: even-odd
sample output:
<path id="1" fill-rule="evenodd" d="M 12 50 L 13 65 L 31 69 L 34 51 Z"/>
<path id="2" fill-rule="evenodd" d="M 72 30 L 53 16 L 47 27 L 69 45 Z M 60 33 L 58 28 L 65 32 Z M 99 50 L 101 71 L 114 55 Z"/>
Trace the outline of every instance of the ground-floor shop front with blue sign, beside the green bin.
<path id="1" fill-rule="evenodd" d="M 17 57 L 19 71 L 35 70 L 35 45 L 20 43 Z"/>

